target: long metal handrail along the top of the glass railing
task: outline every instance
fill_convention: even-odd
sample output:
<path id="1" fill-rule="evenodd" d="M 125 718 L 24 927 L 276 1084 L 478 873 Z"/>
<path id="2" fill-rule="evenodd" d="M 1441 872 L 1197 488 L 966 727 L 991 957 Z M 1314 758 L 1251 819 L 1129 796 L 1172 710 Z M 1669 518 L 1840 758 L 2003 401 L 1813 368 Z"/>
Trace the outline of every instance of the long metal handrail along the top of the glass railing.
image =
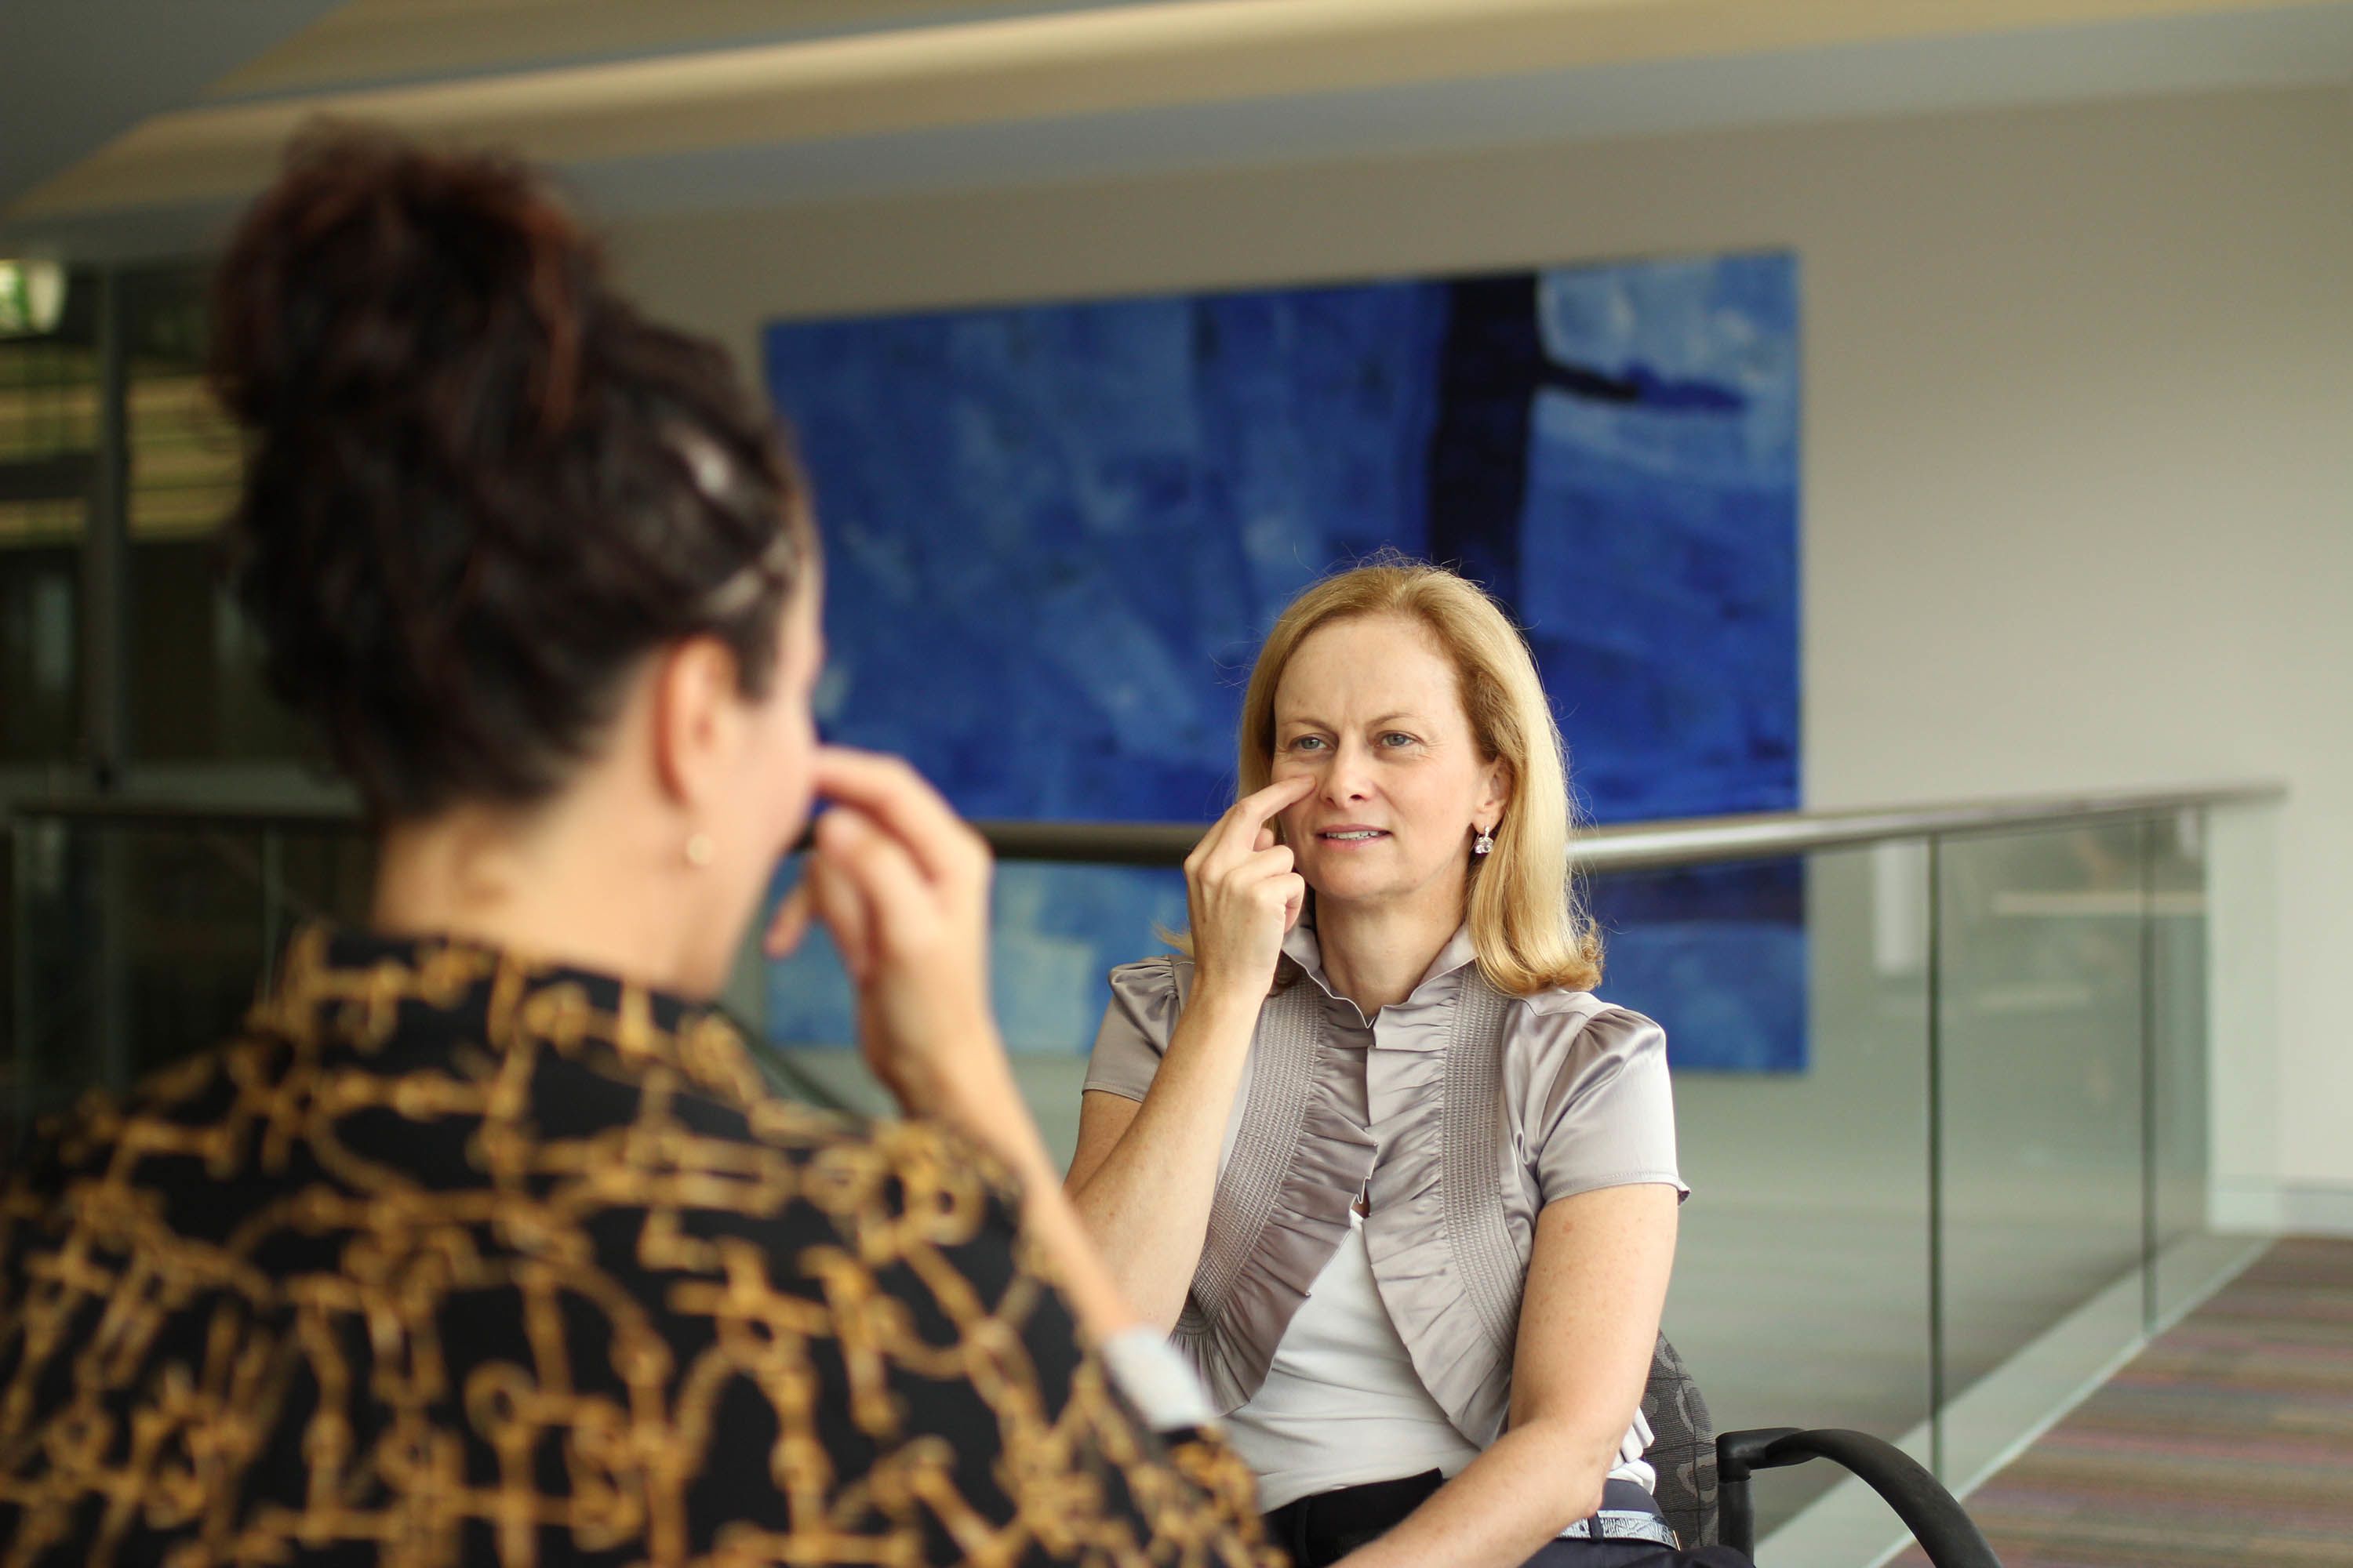
<path id="1" fill-rule="evenodd" d="M 1777 860 L 1814 849 L 1845 849 L 1889 839 L 1960 832 L 2024 832 L 2073 823 L 2158 816 L 2202 806 L 2254 806 L 2287 797 L 2275 780 L 2177 785 L 2167 790 L 2089 790 L 2078 795 L 2019 795 L 2005 799 L 1922 806 L 1861 806 L 1845 811 L 1760 811 L 1753 816 L 1694 816 L 1652 823 L 1612 823 L 1577 835 L 1569 851 L 1579 870 L 1619 872 L 1713 860 Z M 353 806 L 214 806 L 198 802 L 125 799 L 120 795 L 16 799 L 9 816 L 89 823 L 104 827 L 226 827 L 358 832 Z M 1205 823 L 972 823 L 1000 860 L 1059 860 L 1082 865 L 1181 865 Z"/>

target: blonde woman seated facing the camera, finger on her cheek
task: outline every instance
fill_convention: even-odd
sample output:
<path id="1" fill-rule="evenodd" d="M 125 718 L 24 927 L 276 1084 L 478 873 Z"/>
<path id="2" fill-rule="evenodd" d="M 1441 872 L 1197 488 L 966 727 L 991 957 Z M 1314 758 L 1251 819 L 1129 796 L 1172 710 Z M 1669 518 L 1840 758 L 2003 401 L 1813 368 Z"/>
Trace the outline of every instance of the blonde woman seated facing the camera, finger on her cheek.
<path id="1" fill-rule="evenodd" d="M 1113 971 L 1068 1190 L 1301 1568 L 1732 1561 L 1649 1497 L 1685 1187 L 1666 1039 L 1591 994 L 1567 839 L 1504 611 L 1344 571 L 1259 654 L 1188 954 Z"/>

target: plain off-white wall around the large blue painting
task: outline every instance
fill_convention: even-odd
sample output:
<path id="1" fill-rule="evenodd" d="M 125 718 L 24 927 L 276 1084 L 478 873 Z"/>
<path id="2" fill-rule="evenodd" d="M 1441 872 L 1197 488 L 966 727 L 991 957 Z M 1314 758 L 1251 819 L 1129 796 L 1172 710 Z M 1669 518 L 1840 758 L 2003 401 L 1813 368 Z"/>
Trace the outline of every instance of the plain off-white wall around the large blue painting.
<path id="1" fill-rule="evenodd" d="M 2217 1154 L 2353 1213 L 2353 89 L 899 197 L 614 244 L 748 364 L 779 315 L 1795 247 L 1807 802 L 2289 780 L 2282 1056 L 2221 1095 Z"/>

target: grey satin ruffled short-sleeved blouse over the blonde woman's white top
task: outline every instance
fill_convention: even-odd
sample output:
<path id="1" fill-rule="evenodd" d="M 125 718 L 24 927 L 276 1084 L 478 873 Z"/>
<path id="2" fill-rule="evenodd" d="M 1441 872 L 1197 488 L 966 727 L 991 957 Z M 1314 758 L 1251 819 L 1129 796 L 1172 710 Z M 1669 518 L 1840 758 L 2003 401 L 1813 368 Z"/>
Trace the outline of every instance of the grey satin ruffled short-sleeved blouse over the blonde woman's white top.
<path id="1" fill-rule="evenodd" d="M 1174 1345 L 1219 1413 L 1249 1403 L 1369 1190 L 1381 1302 L 1421 1385 L 1485 1448 L 1511 1408 L 1537 1213 L 1635 1182 L 1689 1194 L 1666 1034 L 1591 992 L 1499 992 L 1468 926 L 1369 1023 L 1332 994 L 1311 926 L 1282 954 Z M 1141 1100 L 1191 983 L 1174 954 L 1113 969 L 1085 1086 Z"/>

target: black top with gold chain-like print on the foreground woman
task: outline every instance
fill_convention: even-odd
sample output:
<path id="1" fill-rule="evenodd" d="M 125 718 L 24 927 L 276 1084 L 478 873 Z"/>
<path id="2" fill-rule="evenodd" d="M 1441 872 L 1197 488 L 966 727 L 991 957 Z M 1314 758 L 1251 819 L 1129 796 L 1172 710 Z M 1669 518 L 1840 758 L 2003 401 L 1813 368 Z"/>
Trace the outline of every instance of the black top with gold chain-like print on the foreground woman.
<path id="1" fill-rule="evenodd" d="M 715 1013 L 308 931 L 0 1194 L 0 1563 L 1275 1568 L 1002 1171 Z"/>

